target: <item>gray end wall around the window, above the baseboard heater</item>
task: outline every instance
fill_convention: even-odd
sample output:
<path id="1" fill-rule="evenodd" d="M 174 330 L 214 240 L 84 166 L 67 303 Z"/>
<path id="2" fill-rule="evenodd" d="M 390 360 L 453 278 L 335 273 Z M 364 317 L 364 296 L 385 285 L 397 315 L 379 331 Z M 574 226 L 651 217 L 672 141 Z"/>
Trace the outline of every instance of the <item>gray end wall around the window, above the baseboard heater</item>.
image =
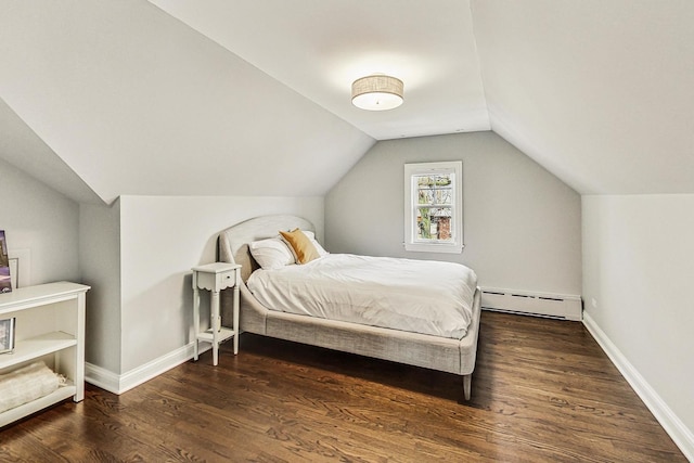
<path id="1" fill-rule="evenodd" d="M 463 162 L 462 255 L 406 252 L 403 165 Z M 332 253 L 438 259 L 483 286 L 581 294 L 580 196 L 493 132 L 378 142 L 325 198 Z"/>

